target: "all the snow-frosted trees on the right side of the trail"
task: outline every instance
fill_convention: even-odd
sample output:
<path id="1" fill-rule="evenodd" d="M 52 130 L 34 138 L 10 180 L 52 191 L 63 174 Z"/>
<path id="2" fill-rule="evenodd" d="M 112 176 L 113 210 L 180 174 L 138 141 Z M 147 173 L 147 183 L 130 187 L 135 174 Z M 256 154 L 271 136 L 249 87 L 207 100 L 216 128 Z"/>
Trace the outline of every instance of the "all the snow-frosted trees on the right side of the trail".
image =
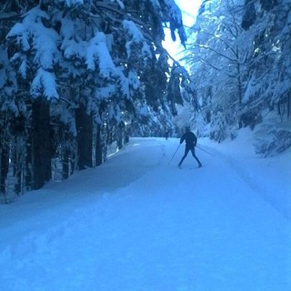
<path id="1" fill-rule="evenodd" d="M 185 58 L 199 135 L 220 142 L 250 126 L 261 156 L 290 146 L 290 11 L 286 0 L 202 2 Z"/>

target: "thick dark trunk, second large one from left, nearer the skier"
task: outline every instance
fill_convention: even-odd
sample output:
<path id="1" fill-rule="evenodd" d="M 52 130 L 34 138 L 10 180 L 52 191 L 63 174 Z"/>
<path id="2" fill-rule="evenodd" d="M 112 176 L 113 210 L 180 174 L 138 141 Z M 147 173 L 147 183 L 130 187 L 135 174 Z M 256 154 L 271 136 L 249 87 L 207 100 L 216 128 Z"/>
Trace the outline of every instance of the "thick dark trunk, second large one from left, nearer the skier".
<path id="1" fill-rule="evenodd" d="M 93 166 L 93 120 L 92 116 L 86 114 L 85 105 L 80 105 L 80 107 L 76 110 L 75 123 L 78 141 L 78 167 L 79 170 L 83 170 L 86 167 Z"/>

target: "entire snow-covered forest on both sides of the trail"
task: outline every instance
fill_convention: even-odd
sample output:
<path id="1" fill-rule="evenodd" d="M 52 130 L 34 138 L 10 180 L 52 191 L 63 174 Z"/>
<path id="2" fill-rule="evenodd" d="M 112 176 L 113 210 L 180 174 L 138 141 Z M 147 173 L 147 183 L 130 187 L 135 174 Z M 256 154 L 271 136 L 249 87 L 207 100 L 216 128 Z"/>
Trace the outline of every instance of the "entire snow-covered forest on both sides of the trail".
<path id="1" fill-rule="evenodd" d="M 192 27 L 174 0 L 3 0 L 0 26 L 5 203 L 187 122 L 217 142 L 249 126 L 263 157 L 291 146 L 290 0 L 204 0 Z"/>

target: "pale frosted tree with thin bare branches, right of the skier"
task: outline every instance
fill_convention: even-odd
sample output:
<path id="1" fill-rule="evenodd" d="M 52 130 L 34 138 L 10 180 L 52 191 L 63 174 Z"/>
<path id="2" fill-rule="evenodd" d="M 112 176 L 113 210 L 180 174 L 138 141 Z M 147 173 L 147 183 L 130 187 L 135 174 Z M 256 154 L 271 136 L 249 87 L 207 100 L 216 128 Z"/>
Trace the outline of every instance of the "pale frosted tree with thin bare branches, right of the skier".
<path id="1" fill-rule="evenodd" d="M 192 28 L 194 41 L 186 55 L 195 76 L 198 107 L 201 106 L 196 118 L 202 117 L 206 124 L 216 120 L 207 130 L 198 131 L 218 141 L 228 135 L 228 125 L 237 123 L 242 104 L 246 35 L 240 27 L 240 15 L 242 6 L 234 1 L 204 1 Z"/>

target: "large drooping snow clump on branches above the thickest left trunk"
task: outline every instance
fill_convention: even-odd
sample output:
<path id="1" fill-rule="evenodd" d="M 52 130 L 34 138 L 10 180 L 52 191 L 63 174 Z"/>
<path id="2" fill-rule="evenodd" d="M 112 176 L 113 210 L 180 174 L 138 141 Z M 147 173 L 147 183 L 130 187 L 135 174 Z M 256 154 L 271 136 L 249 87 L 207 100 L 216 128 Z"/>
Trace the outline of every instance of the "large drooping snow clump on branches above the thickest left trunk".
<path id="1" fill-rule="evenodd" d="M 47 99 L 58 98 L 56 92 L 55 74 L 51 73 L 59 59 L 57 44 L 59 35 L 52 28 L 47 28 L 40 19 L 49 19 L 49 16 L 39 7 L 31 9 L 25 14 L 23 23 L 15 24 L 6 38 L 16 38 L 21 45 L 22 53 L 15 53 L 12 60 L 21 62 L 19 73 L 26 77 L 27 56 L 30 48 L 34 49 L 34 64 L 38 67 L 32 81 L 32 95 L 45 95 Z M 32 46 L 32 47 L 31 47 Z M 29 54 L 28 54 L 29 55 Z"/>

